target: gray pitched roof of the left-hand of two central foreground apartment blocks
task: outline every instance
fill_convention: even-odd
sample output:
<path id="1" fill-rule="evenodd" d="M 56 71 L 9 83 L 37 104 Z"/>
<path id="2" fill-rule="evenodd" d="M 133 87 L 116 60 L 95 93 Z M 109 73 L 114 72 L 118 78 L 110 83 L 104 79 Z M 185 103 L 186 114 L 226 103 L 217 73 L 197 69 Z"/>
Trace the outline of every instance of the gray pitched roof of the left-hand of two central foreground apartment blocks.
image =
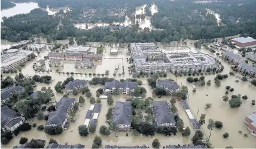
<path id="1" fill-rule="evenodd" d="M 123 125 L 130 125 L 132 122 L 132 102 L 115 102 L 113 107 L 113 122 Z"/>

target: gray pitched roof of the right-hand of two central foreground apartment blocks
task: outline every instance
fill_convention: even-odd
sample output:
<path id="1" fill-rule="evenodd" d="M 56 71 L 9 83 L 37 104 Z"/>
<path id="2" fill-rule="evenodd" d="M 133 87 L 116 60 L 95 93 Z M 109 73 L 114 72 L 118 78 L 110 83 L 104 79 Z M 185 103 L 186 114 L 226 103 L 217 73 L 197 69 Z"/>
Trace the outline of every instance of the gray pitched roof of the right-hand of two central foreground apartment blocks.
<path id="1" fill-rule="evenodd" d="M 154 101 L 153 113 L 159 125 L 164 123 L 176 123 L 167 101 Z"/>

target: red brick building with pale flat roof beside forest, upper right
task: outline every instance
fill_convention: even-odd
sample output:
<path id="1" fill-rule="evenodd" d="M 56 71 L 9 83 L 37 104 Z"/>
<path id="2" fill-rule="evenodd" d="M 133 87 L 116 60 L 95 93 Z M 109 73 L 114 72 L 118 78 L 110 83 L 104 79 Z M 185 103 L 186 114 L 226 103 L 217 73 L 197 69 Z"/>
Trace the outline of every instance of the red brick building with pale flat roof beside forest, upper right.
<path id="1" fill-rule="evenodd" d="M 256 46 L 256 39 L 253 39 L 251 37 L 233 38 L 233 39 L 230 39 L 230 41 L 236 43 L 236 45 L 240 47 L 252 46 L 252 45 Z"/>

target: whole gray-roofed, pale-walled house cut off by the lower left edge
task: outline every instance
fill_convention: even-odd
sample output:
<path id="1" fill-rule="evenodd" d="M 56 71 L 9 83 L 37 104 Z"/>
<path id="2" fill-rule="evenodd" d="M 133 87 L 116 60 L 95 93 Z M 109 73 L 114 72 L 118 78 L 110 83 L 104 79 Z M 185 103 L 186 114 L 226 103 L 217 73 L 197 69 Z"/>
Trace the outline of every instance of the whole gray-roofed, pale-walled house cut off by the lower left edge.
<path id="1" fill-rule="evenodd" d="M 1 107 L 1 129 L 2 131 L 15 131 L 25 121 L 19 113 L 5 105 Z"/>

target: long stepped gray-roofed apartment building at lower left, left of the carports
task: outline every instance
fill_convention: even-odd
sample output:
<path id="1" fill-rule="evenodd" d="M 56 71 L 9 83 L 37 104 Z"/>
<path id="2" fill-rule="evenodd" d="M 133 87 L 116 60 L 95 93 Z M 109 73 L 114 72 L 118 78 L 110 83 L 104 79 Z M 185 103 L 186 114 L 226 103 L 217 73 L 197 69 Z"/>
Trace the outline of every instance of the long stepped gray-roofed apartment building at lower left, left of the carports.
<path id="1" fill-rule="evenodd" d="M 56 111 L 51 111 L 45 127 L 61 126 L 65 128 L 66 123 L 69 122 L 69 113 L 74 110 L 75 98 L 62 97 L 55 105 Z"/>

